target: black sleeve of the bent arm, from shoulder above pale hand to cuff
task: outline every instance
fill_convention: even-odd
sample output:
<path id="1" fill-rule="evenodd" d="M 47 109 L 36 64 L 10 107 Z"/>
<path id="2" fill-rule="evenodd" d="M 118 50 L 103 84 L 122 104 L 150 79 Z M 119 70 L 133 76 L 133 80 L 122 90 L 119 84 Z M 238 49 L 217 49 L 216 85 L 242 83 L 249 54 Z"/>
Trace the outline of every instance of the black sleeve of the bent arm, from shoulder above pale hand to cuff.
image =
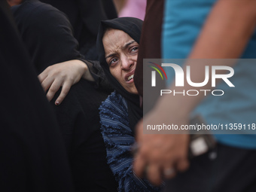
<path id="1" fill-rule="evenodd" d="M 95 87 L 111 89 L 99 62 L 85 60 L 78 51 L 78 41 L 66 14 L 37 0 L 26 0 L 11 10 L 38 74 L 56 62 L 81 59 L 92 72 Z"/>

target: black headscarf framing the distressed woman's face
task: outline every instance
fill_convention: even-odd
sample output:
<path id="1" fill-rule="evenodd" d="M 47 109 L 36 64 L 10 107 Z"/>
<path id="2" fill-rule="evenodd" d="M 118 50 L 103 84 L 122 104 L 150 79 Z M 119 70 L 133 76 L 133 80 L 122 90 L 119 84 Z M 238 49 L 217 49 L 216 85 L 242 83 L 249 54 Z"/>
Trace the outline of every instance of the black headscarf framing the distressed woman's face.
<path id="1" fill-rule="evenodd" d="M 108 81 L 117 91 L 117 93 L 120 93 L 120 95 L 123 96 L 128 103 L 130 128 L 133 130 L 133 133 L 136 123 L 138 123 L 138 120 L 142 118 L 143 114 L 142 108 L 139 107 L 139 95 L 129 93 L 128 91 L 126 91 L 120 85 L 120 83 L 111 75 L 108 63 L 105 60 L 105 50 L 103 47 L 102 38 L 106 29 L 119 29 L 130 35 L 130 37 L 133 38 L 133 40 L 139 44 L 139 39 L 142 32 L 142 23 L 142 20 L 133 17 L 119 17 L 114 20 L 105 20 L 102 21 L 102 23 L 99 26 L 99 33 L 97 37 L 97 49 L 99 52 L 100 65 L 102 66 L 102 69 L 104 70 L 105 75 L 108 78 Z"/>

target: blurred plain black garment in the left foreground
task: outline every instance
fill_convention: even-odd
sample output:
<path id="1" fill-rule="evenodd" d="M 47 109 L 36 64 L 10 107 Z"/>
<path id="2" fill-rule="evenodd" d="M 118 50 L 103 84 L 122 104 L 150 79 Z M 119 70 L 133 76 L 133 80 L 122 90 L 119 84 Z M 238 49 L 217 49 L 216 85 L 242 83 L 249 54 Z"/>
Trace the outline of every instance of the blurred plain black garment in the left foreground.
<path id="1" fill-rule="evenodd" d="M 1 0 L 0 191 L 73 191 L 56 117 L 9 9 Z"/>

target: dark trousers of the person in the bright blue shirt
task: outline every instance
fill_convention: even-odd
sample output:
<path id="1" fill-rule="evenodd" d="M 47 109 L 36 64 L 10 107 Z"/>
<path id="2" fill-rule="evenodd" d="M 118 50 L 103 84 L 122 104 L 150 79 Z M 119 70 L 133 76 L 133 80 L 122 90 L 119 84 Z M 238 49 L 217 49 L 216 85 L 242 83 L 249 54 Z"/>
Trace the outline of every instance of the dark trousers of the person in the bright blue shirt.
<path id="1" fill-rule="evenodd" d="M 215 150 L 190 160 L 189 169 L 166 181 L 164 191 L 254 192 L 255 162 L 255 150 L 218 144 Z"/>

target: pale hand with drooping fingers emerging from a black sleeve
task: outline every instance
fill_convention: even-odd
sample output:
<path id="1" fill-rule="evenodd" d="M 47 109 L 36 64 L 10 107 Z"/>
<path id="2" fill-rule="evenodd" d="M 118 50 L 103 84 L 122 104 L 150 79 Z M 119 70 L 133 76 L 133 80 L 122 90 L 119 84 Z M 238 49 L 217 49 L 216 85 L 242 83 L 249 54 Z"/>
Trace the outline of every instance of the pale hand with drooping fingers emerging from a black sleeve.
<path id="1" fill-rule="evenodd" d="M 48 90 L 46 96 L 49 101 L 53 99 L 55 93 L 62 87 L 61 93 L 55 101 L 55 105 L 59 105 L 63 101 L 72 85 L 78 83 L 82 77 L 93 81 L 87 65 L 78 59 L 49 66 L 44 72 L 38 75 L 44 91 L 46 92 Z"/>

